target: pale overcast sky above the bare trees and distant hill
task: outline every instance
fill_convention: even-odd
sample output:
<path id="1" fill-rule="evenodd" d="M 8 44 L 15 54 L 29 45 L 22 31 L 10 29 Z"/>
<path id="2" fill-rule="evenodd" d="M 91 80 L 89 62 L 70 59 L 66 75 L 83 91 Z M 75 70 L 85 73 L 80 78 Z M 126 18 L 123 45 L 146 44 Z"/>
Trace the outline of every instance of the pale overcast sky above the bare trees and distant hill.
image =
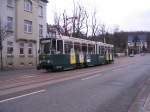
<path id="1" fill-rule="evenodd" d="M 125 31 L 150 31 L 150 0 L 74 0 L 86 7 L 90 13 L 97 10 L 100 23 L 113 28 L 119 26 Z M 53 23 L 55 11 L 62 13 L 66 9 L 70 14 L 73 0 L 49 0 L 47 22 Z"/>

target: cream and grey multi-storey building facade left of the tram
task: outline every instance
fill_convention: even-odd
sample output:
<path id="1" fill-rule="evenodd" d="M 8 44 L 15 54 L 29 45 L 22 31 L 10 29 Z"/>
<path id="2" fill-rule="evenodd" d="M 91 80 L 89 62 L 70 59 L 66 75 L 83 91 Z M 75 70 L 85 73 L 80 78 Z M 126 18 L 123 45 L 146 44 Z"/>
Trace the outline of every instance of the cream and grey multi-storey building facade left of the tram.
<path id="1" fill-rule="evenodd" d="M 47 0 L 0 0 L 0 21 L 7 30 L 2 41 L 3 67 L 38 63 L 39 39 L 47 33 L 46 5 Z"/>

